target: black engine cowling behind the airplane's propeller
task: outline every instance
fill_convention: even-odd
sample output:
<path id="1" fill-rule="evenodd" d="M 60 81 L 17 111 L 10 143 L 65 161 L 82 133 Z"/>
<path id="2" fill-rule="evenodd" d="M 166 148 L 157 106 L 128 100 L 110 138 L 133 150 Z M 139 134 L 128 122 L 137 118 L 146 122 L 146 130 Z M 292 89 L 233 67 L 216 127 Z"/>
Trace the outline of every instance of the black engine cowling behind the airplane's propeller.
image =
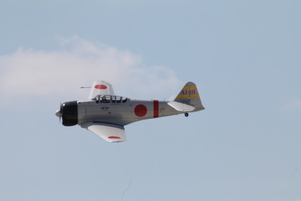
<path id="1" fill-rule="evenodd" d="M 61 106 L 61 113 L 64 126 L 74 126 L 78 122 L 77 102 L 64 102 Z"/>

